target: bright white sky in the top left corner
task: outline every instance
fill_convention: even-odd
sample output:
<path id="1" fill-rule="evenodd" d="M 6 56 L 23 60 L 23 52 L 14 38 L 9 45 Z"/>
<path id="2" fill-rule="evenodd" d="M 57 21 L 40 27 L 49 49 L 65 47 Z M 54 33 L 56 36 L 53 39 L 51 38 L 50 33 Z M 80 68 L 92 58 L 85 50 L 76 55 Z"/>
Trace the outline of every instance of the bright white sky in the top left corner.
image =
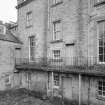
<path id="1" fill-rule="evenodd" d="M 17 0 L 0 0 L 0 20 L 3 22 L 16 22 L 17 10 L 15 6 Z"/>

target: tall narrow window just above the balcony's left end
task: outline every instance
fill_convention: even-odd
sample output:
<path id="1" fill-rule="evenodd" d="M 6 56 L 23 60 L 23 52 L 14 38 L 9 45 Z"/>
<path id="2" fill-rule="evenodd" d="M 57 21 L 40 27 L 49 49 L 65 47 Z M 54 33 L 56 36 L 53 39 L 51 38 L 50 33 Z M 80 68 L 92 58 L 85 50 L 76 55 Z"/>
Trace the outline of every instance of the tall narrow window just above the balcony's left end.
<path id="1" fill-rule="evenodd" d="M 30 47 L 30 60 L 35 59 L 35 36 L 29 37 L 29 47 Z"/>

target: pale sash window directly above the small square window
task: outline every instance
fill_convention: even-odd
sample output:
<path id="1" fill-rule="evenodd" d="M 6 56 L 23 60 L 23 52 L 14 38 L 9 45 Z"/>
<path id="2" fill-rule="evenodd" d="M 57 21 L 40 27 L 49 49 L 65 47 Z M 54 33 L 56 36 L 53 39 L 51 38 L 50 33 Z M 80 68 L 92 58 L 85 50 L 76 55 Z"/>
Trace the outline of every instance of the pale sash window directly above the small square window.
<path id="1" fill-rule="evenodd" d="M 61 40 L 62 36 L 62 24 L 61 20 L 53 22 L 53 40 Z"/>

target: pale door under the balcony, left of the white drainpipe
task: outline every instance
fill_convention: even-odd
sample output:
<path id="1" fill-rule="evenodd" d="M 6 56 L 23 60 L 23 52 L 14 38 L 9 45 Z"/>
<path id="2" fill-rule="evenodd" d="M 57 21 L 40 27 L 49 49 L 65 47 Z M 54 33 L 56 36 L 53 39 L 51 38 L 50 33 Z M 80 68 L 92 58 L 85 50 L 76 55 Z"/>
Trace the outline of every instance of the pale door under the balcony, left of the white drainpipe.
<path id="1" fill-rule="evenodd" d="M 72 78 L 63 78 L 63 97 L 72 100 Z"/>

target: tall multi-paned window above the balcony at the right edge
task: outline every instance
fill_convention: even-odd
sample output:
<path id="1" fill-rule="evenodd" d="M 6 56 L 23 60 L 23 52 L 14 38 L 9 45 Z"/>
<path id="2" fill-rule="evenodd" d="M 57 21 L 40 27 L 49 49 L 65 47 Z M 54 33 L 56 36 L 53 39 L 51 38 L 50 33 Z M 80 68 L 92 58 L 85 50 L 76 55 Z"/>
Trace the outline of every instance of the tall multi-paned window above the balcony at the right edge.
<path id="1" fill-rule="evenodd" d="M 105 62 L 105 21 L 98 23 L 99 62 Z"/>

